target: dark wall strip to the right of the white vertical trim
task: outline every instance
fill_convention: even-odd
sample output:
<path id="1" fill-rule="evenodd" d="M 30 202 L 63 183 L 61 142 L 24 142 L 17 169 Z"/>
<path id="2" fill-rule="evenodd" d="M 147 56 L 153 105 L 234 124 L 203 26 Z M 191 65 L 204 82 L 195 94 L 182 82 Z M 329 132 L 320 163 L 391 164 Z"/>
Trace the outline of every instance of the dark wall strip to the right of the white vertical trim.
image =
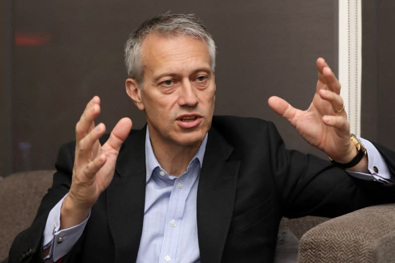
<path id="1" fill-rule="evenodd" d="M 395 149 L 395 1 L 364 0 L 362 11 L 361 133 Z"/>

